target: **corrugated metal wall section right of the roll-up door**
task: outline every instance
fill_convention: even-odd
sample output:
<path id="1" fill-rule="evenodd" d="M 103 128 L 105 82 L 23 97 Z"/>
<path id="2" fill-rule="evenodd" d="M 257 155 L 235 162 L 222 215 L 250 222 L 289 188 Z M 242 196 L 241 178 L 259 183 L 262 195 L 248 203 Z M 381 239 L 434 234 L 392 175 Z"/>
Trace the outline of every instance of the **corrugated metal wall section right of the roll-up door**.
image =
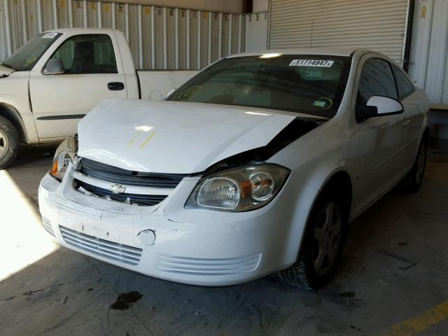
<path id="1" fill-rule="evenodd" d="M 409 76 L 433 104 L 448 104 L 448 1 L 417 0 Z"/>

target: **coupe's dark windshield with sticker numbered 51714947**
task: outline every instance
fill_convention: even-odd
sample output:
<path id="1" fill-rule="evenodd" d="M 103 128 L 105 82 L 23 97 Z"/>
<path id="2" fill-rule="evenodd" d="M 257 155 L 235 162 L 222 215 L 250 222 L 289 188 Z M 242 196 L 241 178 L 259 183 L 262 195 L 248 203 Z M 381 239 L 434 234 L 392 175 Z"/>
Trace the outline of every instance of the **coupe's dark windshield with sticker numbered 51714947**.
<path id="1" fill-rule="evenodd" d="M 350 57 L 272 55 L 223 59 L 167 100 L 335 116 L 349 76 Z"/>

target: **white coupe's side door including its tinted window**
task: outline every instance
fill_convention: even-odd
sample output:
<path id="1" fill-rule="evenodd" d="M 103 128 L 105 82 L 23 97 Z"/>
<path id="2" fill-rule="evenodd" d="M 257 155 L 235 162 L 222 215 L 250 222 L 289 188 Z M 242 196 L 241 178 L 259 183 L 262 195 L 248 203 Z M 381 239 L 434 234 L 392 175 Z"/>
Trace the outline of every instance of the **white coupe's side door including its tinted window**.
<path id="1" fill-rule="evenodd" d="M 356 81 L 354 113 L 360 111 L 372 96 L 398 99 L 391 64 L 379 57 L 361 59 Z M 358 157 L 358 204 L 362 211 L 400 179 L 405 164 L 401 151 L 405 146 L 402 123 L 404 114 L 378 116 L 367 120 L 356 118 L 356 134 L 360 146 Z M 355 211 L 357 212 L 357 211 Z"/>

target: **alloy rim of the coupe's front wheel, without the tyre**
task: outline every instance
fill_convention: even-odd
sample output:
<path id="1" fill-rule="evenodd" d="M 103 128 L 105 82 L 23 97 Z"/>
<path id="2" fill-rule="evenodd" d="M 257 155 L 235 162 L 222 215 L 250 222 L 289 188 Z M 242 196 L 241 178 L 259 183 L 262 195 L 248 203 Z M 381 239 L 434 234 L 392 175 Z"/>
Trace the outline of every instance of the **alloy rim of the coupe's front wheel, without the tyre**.
<path id="1" fill-rule="evenodd" d="M 335 202 L 323 207 L 318 215 L 313 237 L 314 271 L 323 276 L 334 264 L 341 244 L 341 211 Z"/>

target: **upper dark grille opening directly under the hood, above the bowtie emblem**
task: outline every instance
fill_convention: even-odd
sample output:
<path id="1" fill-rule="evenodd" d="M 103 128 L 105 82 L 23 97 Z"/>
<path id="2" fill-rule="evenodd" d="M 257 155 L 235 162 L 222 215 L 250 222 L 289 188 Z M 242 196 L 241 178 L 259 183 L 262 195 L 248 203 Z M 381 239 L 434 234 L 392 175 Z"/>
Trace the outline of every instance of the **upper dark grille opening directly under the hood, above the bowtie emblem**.
<path id="1" fill-rule="evenodd" d="M 126 186 L 140 186 L 151 188 L 174 189 L 187 176 L 187 174 L 161 174 L 132 172 L 104 163 L 92 161 L 86 158 L 80 160 L 79 170 L 81 173 L 97 179 L 112 183 L 125 184 Z"/>

